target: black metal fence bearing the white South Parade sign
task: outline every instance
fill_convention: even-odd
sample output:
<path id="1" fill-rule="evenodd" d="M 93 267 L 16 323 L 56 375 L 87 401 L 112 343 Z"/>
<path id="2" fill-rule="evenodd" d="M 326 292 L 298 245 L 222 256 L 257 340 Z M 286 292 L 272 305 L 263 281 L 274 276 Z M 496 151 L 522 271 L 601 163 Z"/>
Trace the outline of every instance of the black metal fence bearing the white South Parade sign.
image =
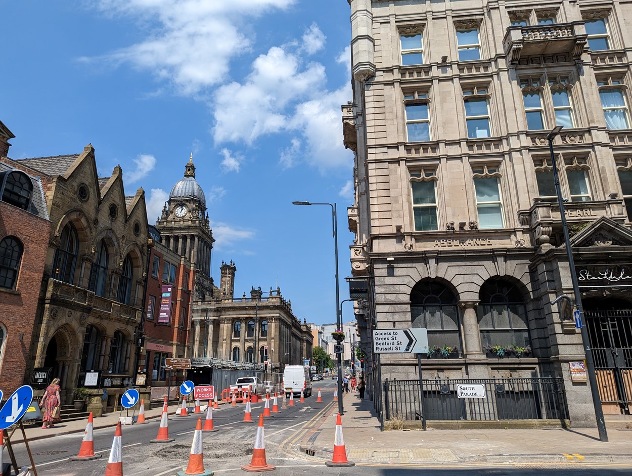
<path id="1" fill-rule="evenodd" d="M 475 391 L 463 398 L 468 388 Z M 384 382 L 386 419 L 422 420 L 420 396 L 418 380 L 387 379 Z M 568 418 L 561 377 L 423 380 L 423 409 L 426 420 Z"/>

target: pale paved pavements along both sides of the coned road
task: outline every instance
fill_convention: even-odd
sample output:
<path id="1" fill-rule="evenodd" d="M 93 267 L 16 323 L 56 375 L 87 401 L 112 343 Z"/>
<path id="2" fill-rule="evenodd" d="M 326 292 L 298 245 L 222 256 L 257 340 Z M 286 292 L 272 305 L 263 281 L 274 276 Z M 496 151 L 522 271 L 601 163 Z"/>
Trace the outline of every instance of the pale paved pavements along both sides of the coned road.
<path id="1" fill-rule="evenodd" d="M 331 395 L 329 393 L 328 395 Z M 306 405 L 315 407 L 315 394 Z M 324 412 L 308 425 L 300 441 L 306 458 L 331 461 L 338 405 L 331 397 L 323 397 Z M 329 400 L 329 401 L 327 401 Z M 296 403 L 296 405 L 303 405 Z M 281 401 L 279 401 L 281 406 Z M 344 414 L 341 417 L 347 458 L 358 464 L 423 465 L 423 467 L 473 467 L 504 464 L 542 463 L 611 465 L 632 467 L 632 429 L 608 428 L 609 441 L 599 441 L 597 429 L 460 429 L 460 430 L 387 430 L 380 431 L 380 422 L 373 402 L 357 392 L 343 394 Z M 179 405 L 169 406 L 170 415 Z M 318 408 L 318 407 L 317 407 Z M 145 411 L 145 418 L 160 418 L 162 405 Z M 129 413 L 132 415 L 132 413 Z M 126 416 L 123 412 L 122 416 Z M 204 417 L 204 414 L 201 415 Z M 113 427 L 119 413 L 94 418 L 94 428 Z M 29 441 L 59 434 L 83 432 L 86 420 L 59 422 L 52 429 L 25 425 Z M 11 437 L 21 441 L 19 427 Z M 297 448 L 298 449 L 298 448 Z"/>

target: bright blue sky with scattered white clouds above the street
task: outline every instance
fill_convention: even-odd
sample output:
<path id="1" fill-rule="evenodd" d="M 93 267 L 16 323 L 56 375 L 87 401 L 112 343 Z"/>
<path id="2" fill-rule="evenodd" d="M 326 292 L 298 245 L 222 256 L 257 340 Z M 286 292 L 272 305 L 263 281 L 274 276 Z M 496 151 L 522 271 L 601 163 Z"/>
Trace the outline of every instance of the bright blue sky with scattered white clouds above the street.
<path id="1" fill-rule="evenodd" d="M 341 300 L 348 297 L 353 154 L 345 0 L 2 1 L 0 120 L 9 156 L 95 147 L 123 168 L 154 223 L 193 152 L 221 261 L 236 296 L 276 288 L 308 322 L 334 322 L 337 203 Z M 353 319 L 345 305 L 343 320 Z"/>

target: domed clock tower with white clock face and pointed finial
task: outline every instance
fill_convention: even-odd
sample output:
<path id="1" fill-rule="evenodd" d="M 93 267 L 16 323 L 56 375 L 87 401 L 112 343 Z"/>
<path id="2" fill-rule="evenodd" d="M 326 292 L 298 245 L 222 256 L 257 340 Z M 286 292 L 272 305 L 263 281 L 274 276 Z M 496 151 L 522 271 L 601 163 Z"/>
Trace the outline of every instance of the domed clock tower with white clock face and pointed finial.
<path id="1" fill-rule="evenodd" d="M 180 256 L 186 256 L 195 268 L 193 299 L 211 298 L 210 253 L 215 240 L 209 226 L 206 197 L 195 180 L 193 154 L 185 165 L 185 176 L 171 189 L 156 228 L 161 233 L 162 243 Z"/>

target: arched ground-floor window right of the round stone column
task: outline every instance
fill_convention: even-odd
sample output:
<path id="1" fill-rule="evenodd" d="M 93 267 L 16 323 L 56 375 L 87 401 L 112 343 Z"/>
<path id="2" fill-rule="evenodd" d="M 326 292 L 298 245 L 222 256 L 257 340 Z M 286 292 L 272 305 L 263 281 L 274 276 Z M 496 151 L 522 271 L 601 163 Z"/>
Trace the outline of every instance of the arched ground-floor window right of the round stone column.
<path id="1" fill-rule="evenodd" d="M 478 327 L 483 346 L 530 345 L 525 298 L 517 286 L 493 278 L 480 288 Z"/>

